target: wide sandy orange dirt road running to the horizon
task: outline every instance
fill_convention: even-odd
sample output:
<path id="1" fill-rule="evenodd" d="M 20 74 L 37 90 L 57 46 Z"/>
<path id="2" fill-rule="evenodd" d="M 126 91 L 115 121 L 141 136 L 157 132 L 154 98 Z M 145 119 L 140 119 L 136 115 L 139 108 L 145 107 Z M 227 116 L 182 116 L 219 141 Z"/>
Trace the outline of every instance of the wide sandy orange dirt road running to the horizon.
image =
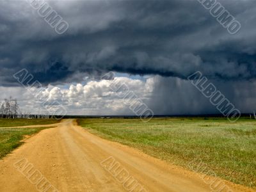
<path id="1" fill-rule="evenodd" d="M 0 191 L 213 191 L 200 175 L 103 140 L 70 119 L 28 138 L 0 161 L 0 172 Z"/>

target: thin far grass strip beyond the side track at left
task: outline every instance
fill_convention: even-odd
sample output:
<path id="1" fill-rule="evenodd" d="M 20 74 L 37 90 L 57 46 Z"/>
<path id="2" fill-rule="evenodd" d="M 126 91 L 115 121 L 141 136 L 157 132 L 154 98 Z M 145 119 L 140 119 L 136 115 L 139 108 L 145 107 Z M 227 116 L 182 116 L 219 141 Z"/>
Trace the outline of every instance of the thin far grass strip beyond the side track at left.
<path id="1" fill-rule="evenodd" d="M 56 119 L 26 119 L 26 118 L 1 118 L 0 127 L 17 127 L 17 126 L 27 126 L 27 125 L 48 125 L 56 124 L 60 120 Z"/>

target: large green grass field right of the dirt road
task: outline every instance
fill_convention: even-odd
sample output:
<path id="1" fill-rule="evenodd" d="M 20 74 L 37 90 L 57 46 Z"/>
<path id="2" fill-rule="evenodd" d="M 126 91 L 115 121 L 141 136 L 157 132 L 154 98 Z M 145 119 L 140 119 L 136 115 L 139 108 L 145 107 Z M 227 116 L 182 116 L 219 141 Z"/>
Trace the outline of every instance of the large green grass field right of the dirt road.
<path id="1" fill-rule="evenodd" d="M 204 173 L 256 187 L 256 120 L 241 118 L 153 118 L 77 120 L 90 132 L 138 148 L 185 168 L 206 165 Z"/>

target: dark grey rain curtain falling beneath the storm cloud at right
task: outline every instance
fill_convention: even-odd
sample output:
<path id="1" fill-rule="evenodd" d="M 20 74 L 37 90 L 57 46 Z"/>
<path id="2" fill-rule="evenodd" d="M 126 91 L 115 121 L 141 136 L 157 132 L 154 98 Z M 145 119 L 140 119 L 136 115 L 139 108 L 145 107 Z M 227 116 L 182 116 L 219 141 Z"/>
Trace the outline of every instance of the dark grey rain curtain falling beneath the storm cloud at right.
<path id="1" fill-rule="evenodd" d="M 225 95 L 241 113 L 251 113 L 256 106 L 255 81 L 211 80 L 216 89 Z M 156 77 L 153 97 L 147 105 L 155 115 L 221 114 L 191 82 L 175 77 Z"/>

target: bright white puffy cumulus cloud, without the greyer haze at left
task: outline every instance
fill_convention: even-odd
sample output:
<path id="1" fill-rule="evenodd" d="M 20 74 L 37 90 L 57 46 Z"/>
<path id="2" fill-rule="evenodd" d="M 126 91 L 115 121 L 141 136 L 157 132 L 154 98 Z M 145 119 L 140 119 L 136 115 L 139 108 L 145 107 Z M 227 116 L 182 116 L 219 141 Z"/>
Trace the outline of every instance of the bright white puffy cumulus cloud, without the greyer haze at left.
<path id="1" fill-rule="evenodd" d="M 127 85 L 129 91 L 145 102 L 150 98 L 154 85 L 153 77 L 146 81 L 115 77 L 115 82 Z M 62 102 L 70 111 L 76 111 L 79 115 L 132 115 L 129 106 L 124 105 L 124 99 L 111 89 L 111 83 L 113 81 L 89 81 L 84 86 L 71 84 L 67 89 L 54 86 L 47 88 L 42 95 L 46 99 Z"/>

